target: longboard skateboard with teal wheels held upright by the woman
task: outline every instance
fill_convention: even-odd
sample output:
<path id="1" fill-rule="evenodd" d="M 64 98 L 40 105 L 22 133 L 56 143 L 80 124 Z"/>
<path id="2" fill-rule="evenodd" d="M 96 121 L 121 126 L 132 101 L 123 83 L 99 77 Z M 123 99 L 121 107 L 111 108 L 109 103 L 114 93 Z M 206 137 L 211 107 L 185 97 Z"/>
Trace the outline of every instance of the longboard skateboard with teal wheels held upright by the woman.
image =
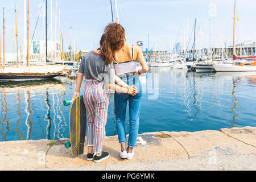
<path id="1" fill-rule="evenodd" d="M 71 147 L 73 158 L 84 153 L 84 140 L 86 131 L 86 110 L 82 96 L 69 101 L 63 101 L 64 106 L 71 104 L 69 111 L 70 141 L 65 142 L 65 147 Z"/>

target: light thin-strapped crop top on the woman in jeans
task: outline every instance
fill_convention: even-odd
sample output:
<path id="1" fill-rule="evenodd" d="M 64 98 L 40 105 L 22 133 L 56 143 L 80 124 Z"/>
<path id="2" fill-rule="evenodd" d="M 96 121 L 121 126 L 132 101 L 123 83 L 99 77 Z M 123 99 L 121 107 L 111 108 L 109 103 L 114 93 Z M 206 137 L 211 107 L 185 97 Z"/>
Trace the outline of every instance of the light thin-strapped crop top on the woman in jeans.
<path id="1" fill-rule="evenodd" d="M 134 53 L 133 53 L 133 45 L 131 46 L 132 49 L 132 57 L 134 58 Z M 131 59 L 131 61 L 126 61 L 123 63 L 117 63 L 117 61 L 115 61 L 114 59 L 114 68 L 115 68 L 115 75 L 122 75 L 125 73 L 131 73 L 131 72 L 135 72 L 136 71 L 136 66 L 137 66 L 137 61 L 133 60 L 133 58 Z"/>

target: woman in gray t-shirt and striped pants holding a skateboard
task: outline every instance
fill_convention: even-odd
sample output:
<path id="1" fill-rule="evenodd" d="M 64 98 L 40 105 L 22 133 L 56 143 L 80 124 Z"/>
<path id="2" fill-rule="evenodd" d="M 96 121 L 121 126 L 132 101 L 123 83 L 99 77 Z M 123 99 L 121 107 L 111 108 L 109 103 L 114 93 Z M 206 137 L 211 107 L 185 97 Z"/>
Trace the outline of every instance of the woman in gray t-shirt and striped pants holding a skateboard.
<path id="1" fill-rule="evenodd" d="M 104 40 L 105 35 L 102 35 L 100 44 Z M 94 158 L 94 162 L 98 163 L 109 157 L 109 152 L 102 151 L 106 134 L 105 125 L 108 119 L 109 90 L 107 88 L 130 95 L 135 95 L 137 88 L 134 85 L 125 84 L 115 76 L 113 63 L 102 59 L 100 49 L 90 51 L 83 57 L 73 98 L 80 96 L 83 75 L 85 75 L 83 96 L 88 119 L 86 125 L 87 160 Z"/>

